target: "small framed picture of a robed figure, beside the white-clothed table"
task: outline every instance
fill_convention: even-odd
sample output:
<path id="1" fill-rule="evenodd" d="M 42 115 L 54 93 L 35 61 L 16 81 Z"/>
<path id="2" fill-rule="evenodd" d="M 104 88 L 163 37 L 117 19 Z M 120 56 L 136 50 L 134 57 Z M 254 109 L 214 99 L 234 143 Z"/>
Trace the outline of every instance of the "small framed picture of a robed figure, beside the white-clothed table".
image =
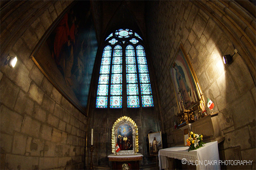
<path id="1" fill-rule="evenodd" d="M 161 131 L 155 132 L 155 133 L 149 133 L 148 142 L 149 142 L 149 155 L 158 155 L 158 151 L 160 149 L 163 149 Z"/>

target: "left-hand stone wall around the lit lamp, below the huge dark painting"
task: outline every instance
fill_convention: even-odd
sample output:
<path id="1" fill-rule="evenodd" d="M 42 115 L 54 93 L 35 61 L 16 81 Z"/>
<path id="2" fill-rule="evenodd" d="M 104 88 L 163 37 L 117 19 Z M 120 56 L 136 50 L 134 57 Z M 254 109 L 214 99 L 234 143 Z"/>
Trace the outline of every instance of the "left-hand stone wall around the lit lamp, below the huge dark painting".
<path id="1" fill-rule="evenodd" d="M 71 1 L 1 7 L 1 169 L 83 169 L 87 119 L 29 58 Z M 17 55 L 14 69 L 3 65 Z"/>

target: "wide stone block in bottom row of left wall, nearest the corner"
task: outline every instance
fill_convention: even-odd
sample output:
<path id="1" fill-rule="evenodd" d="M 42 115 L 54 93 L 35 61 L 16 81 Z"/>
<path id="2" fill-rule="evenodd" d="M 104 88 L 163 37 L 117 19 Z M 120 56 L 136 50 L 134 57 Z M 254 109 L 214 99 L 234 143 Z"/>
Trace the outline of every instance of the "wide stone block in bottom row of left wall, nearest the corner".
<path id="1" fill-rule="evenodd" d="M 38 169 L 38 157 L 6 154 L 6 169 Z"/>

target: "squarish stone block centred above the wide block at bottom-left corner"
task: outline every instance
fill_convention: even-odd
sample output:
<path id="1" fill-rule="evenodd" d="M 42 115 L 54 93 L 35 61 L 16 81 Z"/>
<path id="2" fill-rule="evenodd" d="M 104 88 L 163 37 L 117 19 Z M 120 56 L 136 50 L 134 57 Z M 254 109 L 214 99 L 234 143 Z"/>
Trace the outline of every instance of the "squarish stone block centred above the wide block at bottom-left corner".
<path id="1" fill-rule="evenodd" d="M 27 136 L 15 132 L 13 137 L 12 153 L 24 155 L 26 151 L 27 138 Z"/>

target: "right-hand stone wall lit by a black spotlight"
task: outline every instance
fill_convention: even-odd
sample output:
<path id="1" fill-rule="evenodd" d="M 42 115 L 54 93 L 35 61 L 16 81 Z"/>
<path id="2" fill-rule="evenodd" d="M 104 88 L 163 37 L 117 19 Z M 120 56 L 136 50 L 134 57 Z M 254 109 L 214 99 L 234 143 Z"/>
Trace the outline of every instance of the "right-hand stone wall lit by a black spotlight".
<path id="1" fill-rule="evenodd" d="M 250 64 L 247 62 L 247 59 L 253 56 L 251 54 L 255 53 L 255 42 L 252 42 L 252 45 L 247 43 L 249 48 L 254 44 L 254 52 L 251 50 L 247 53 L 242 49 L 245 44 L 242 42 L 244 37 L 248 38 L 248 42 L 251 36 L 254 36 L 255 40 L 255 18 L 232 1 L 230 3 L 233 4 L 230 5 L 245 11 L 243 15 L 244 18 L 247 17 L 248 22 L 243 20 L 247 24 L 247 27 L 243 25 L 243 29 L 240 29 L 239 25 L 230 26 L 227 30 L 217 22 L 217 17 L 213 18 L 213 16 L 218 16 L 214 13 L 214 8 L 212 7 L 210 16 L 202 7 L 204 6 L 202 4 L 208 2 L 200 1 L 200 3 L 196 1 L 150 1 L 146 5 L 148 48 L 153 56 L 154 69 L 158 70 L 156 82 L 168 147 L 174 145 L 173 107 L 177 107 L 169 69 L 182 43 L 205 98 L 207 99 L 208 95 L 215 104 L 212 111 L 219 112 L 220 128 L 225 137 L 223 148 L 225 159 L 253 161 L 251 166 L 227 166 L 227 168 L 255 169 L 255 83 L 250 73 L 252 69 L 248 69 Z M 213 3 L 216 6 L 223 5 L 217 1 Z M 226 16 L 231 16 L 230 20 L 236 17 L 229 7 L 224 8 L 223 11 L 222 18 L 224 19 L 227 18 Z M 238 17 L 235 19 L 236 23 L 242 23 Z M 254 34 L 251 36 L 246 31 L 243 32 L 251 27 L 254 27 Z M 240 33 L 236 29 L 243 32 L 240 34 L 241 39 L 238 37 L 234 40 L 236 34 Z M 224 65 L 222 56 L 234 54 L 233 44 L 239 54 L 234 55 L 232 64 Z M 252 62 L 252 64 L 255 69 L 255 63 Z M 209 108 L 207 112 L 210 112 Z"/>

